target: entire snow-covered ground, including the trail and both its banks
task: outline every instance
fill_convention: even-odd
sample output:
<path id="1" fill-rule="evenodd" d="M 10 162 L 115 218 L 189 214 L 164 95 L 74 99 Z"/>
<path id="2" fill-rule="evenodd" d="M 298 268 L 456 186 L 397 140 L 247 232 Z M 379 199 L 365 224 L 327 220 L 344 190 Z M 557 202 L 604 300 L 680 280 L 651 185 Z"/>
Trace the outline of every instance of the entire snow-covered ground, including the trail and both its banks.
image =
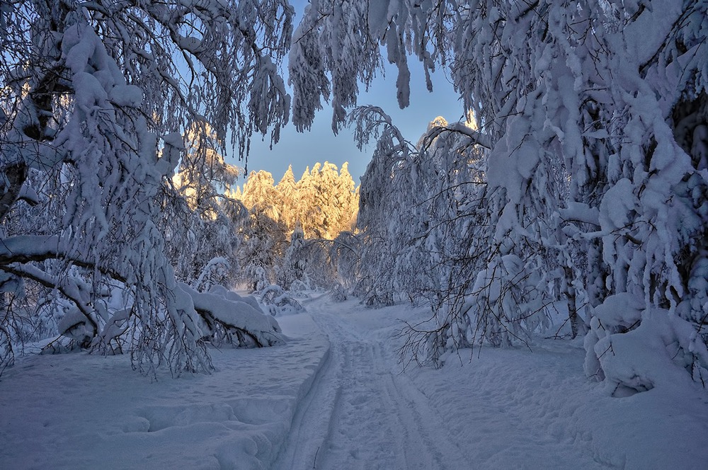
<path id="1" fill-rule="evenodd" d="M 708 394 L 612 398 L 580 343 L 396 362 L 406 306 L 328 297 L 278 319 L 287 345 L 214 351 L 157 382 L 127 357 L 25 357 L 0 380 L 0 469 L 702 469 Z"/>

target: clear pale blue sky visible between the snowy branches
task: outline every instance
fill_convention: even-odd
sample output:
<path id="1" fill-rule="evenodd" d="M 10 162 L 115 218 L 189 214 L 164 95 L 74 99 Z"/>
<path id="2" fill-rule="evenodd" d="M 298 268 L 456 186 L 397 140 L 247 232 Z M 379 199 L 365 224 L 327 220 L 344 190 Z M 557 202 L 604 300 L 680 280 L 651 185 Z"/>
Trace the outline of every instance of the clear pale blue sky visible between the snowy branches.
<path id="1" fill-rule="evenodd" d="M 302 1 L 293 1 L 298 16 L 302 11 Z M 295 24 L 299 18 L 296 19 Z M 368 92 L 360 93 L 359 105 L 377 105 L 392 117 L 394 125 L 399 127 L 406 139 L 418 142 L 418 138 L 426 131 L 428 122 L 437 116 L 443 116 L 448 121 L 463 117 L 462 105 L 457 95 L 452 91 L 450 80 L 445 76 L 446 70 L 438 69 L 433 74 L 433 93 L 426 89 L 423 67 L 411 57 L 411 105 L 401 110 L 396 100 L 396 69 L 387 67 L 385 77 L 379 76 Z M 361 87 L 363 90 L 363 87 Z M 292 93 L 292 91 L 291 91 Z M 332 110 L 328 105 L 315 116 L 310 132 L 299 133 L 295 127 L 288 124 L 280 134 L 280 142 L 269 149 L 270 139 L 261 141 L 260 136 L 254 136 L 249 156 L 249 172 L 265 170 L 273 174 L 278 183 L 282 174 L 292 165 L 295 179 L 302 176 L 307 166 L 312 168 L 316 162 L 329 161 L 338 168 L 349 162 L 349 172 L 355 183 L 366 170 L 371 159 L 374 144 L 369 144 L 364 151 L 359 151 L 354 143 L 353 132 L 342 130 L 336 137 L 331 130 Z M 234 156 L 227 156 L 227 161 L 238 166 L 243 162 L 236 161 Z M 239 185 L 243 184 L 240 180 Z"/>

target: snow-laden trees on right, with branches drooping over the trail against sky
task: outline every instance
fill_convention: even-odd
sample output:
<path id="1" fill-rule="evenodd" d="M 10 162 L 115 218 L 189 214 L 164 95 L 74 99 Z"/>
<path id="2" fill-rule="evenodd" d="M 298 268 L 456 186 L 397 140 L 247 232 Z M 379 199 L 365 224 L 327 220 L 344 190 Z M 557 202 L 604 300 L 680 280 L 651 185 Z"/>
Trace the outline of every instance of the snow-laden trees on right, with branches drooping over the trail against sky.
<path id="1" fill-rule="evenodd" d="M 479 121 L 464 134 L 489 149 L 491 256 L 460 298 L 491 306 L 501 325 L 509 313 L 530 318 L 547 302 L 566 302 L 571 333 L 590 326 L 588 374 L 611 390 L 651 388 L 663 379 L 656 365 L 670 362 L 704 382 L 707 8 L 688 0 L 316 1 L 290 52 L 293 120 L 308 127 L 321 99 L 331 99 L 338 129 L 356 81 L 370 84 L 384 60 L 399 70 L 401 106 L 410 93 L 406 53 L 426 72 L 447 65 Z M 362 185 L 362 207 L 370 197 Z M 617 299 L 627 296 L 636 308 L 620 314 Z M 456 315 L 467 305 L 458 302 Z M 450 335 L 436 344 L 447 348 Z"/>

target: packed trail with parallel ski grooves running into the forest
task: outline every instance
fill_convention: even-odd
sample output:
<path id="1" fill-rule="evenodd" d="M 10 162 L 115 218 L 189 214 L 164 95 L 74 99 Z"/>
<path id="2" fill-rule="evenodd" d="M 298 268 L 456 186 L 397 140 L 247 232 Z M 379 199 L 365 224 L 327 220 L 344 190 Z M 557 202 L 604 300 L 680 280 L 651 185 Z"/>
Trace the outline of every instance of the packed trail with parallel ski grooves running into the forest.
<path id="1" fill-rule="evenodd" d="M 469 457 L 404 375 L 389 341 L 362 335 L 327 303 L 308 306 L 329 356 L 299 403 L 274 469 L 461 469 Z"/>

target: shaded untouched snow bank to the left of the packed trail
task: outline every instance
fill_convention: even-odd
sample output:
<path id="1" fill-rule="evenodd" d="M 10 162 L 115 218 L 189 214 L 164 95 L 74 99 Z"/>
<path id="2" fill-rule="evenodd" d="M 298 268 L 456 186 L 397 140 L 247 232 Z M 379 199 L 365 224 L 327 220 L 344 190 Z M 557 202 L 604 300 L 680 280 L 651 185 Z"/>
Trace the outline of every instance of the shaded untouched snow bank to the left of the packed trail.
<path id="1" fill-rule="evenodd" d="M 280 325 L 287 345 L 212 350 L 216 372 L 180 379 L 125 355 L 21 358 L 0 382 L 0 468 L 270 468 L 329 350 L 309 316 Z"/>

